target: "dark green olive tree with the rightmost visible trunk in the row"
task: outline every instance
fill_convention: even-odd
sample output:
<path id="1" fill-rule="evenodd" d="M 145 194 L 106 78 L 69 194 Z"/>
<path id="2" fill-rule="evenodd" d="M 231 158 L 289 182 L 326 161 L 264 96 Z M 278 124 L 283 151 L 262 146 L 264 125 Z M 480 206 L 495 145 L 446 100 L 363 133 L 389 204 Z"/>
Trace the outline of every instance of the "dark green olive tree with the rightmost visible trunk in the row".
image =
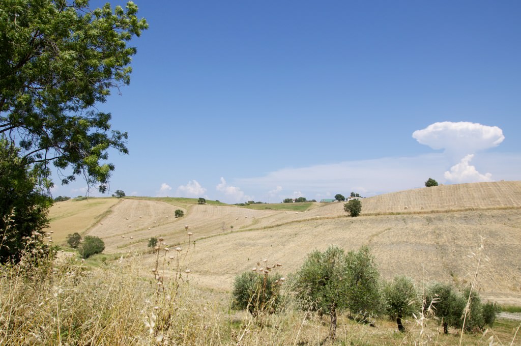
<path id="1" fill-rule="evenodd" d="M 428 289 L 427 304 L 434 307 L 435 315 L 443 321 L 443 332 L 448 333 L 448 327 L 460 328 L 465 308 L 465 299 L 454 290 L 449 283 L 436 282 Z"/>

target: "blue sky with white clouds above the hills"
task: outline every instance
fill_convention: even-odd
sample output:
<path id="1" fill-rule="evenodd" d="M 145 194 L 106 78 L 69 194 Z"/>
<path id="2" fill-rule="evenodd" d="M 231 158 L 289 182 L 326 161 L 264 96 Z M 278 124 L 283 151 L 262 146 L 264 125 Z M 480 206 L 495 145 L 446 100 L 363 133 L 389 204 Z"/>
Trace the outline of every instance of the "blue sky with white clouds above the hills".
<path id="1" fill-rule="evenodd" d="M 135 3 L 150 29 L 131 84 L 99 106 L 129 132 L 111 191 L 281 202 L 521 179 L 518 1 Z"/>

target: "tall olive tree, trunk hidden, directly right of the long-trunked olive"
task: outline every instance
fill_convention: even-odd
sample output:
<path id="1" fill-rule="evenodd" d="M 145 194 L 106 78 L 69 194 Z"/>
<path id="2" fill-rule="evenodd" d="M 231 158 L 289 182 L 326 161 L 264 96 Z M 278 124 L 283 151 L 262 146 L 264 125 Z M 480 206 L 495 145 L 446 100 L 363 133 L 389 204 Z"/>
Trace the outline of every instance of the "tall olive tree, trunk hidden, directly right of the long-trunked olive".
<path id="1" fill-rule="evenodd" d="M 382 307 L 380 273 L 367 246 L 348 253 L 346 271 L 349 310 L 363 319 L 378 313 Z"/>

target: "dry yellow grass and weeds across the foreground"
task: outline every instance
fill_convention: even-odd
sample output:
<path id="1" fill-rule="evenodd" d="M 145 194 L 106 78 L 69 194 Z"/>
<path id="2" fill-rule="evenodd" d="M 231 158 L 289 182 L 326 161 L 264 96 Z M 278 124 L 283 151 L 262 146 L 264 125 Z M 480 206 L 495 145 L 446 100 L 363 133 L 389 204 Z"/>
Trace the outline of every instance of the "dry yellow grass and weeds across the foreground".
<path id="1" fill-rule="evenodd" d="M 93 268 L 73 257 L 51 261 L 45 252 L 27 254 L 19 265 L 0 267 L 0 344 L 329 344 L 328 318 L 296 308 L 291 292 L 283 311 L 265 316 L 261 325 L 231 310 L 229 293 L 194 285 L 182 261 L 183 253 L 162 251 L 153 268 L 143 268 L 138 255 Z M 443 335 L 427 317 L 405 321 L 407 332 L 400 333 L 386 316 L 375 328 L 341 315 L 333 344 L 460 344 L 460 331 Z M 517 329 L 519 322 L 500 319 L 485 335 L 465 334 L 461 344 L 519 344 Z"/>

